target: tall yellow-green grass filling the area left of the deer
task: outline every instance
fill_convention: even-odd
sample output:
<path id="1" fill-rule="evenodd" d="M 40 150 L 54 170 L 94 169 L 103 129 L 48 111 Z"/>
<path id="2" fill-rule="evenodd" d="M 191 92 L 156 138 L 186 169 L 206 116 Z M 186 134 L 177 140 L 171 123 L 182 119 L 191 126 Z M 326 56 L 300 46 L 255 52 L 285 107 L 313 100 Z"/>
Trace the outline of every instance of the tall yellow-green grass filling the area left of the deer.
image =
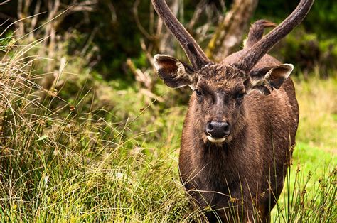
<path id="1" fill-rule="evenodd" d="M 2 221 L 177 221 L 198 217 L 188 211 L 188 197 L 176 174 L 172 148 L 178 148 L 179 142 L 173 132 L 181 128 L 176 124 L 181 123 L 176 111 L 168 111 L 166 119 L 154 122 L 156 127 L 162 123 L 171 126 L 161 132 L 168 141 L 144 141 L 147 135 L 150 140 L 156 138 L 156 133 L 142 132 L 146 129 L 142 126 L 133 131 L 132 126 L 143 123 L 144 118 L 151 121 L 146 114 L 148 99 L 132 89 L 112 89 L 117 103 L 123 103 L 112 106 L 113 110 L 134 107 L 123 114 L 90 111 L 94 104 L 83 102 L 90 102 L 95 91 L 85 92 L 87 86 L 83 86 L 70 98 L 71 103 L 66 102 L 60 92 L 36 84 L 41 77 L 33 70 L 37 58 L 16 58 L 20 52 L 10 52 L 1 60 Z M 122 100 L 123 94 L 131 94 L 127 95 L 130 100 Z M 139 104 L 130 104 L 132 100 Z M 134 117 L 121 121 L 137 108 Z"/>

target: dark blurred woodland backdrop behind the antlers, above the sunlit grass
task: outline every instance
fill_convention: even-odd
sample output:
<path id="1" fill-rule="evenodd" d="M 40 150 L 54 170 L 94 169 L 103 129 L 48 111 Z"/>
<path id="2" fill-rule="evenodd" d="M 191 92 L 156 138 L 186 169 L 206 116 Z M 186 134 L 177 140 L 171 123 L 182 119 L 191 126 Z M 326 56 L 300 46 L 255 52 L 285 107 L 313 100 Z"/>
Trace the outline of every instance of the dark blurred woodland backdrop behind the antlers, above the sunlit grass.
<path id="1" fill-rule="evenodd" d="M 217 59 L 220 53 L 225 56 L 242 47 L 250 23 L 261 18 L 280 23 L 297 4 L 281 0 L 168 2 L 208 55 Z M 150 1 L 9 1 L 1 5 L 0 19 L 1 33 L 8 28 L 6 35 L 29 33 L 31 40 L 50 36 L 46 50 L 59 51 L 59 44 L 63 43 L 63 55 L 85 57 L 87 67 L 106 80 L 134 81 L 127 59 L 144 69 L 151 67 L 148 54 L 171 53 L 183 58 L 176 40 L 158 21 Z M 336 68 L 336 21 L 336 4 L 332 0 L 316 0 L 301 26 L 272 54 L 284 62 L 293 62 L 305 73 L 319 66 L 321 76 L 328 76 L 328 70 Z M 14 24 L 9 26 L 11 23 Z M 225 32 L 220 37 L 222 43 L 215 47 L 209 43 L 218 29 L 230 33 Z M 234 43 L 228 43 L 231 36 L 237 38 Z"/>

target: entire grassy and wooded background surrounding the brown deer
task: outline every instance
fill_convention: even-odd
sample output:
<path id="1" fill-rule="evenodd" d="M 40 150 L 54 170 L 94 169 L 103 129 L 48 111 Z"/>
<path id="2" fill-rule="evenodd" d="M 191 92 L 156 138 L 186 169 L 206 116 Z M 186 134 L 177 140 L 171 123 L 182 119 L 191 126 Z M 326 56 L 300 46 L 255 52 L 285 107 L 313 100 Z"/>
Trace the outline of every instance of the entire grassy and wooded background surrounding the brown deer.
<path id="1" fill-rule="evenodd" d="M 298 4 L 167 2 L 214 61 Z M 153 65 L 156 53 L 188 60 L 149 0 L 3 0 L 0 33 L 0 219 L 200 219 L 177 168 L 191 91 L 163 85 Z M 337 4 L 316 0 L 270 52 L 294 64 L 301 114 L 274 221 L 336 220 L 336 43 Z"/>

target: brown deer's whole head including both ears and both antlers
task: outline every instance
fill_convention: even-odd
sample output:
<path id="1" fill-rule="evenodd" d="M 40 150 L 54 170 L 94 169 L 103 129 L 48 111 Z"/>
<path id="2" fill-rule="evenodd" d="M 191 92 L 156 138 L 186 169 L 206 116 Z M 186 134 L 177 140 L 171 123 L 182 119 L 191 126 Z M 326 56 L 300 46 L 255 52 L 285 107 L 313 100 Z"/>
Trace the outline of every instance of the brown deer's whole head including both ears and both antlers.
<path id="1" fill-rule="evenodd" d="M 205 142 L 230 140 L 242 128 L 245 97 L 253 90 L 268 95 L 279 89 L 294 66 L 274 65 L 255 69 L 268 51 L 294 29 L 309 12 L 313 0 L 301 0 L 296 9 L 264 38 L 245 49 L 237 60 L 211 62 L 191 35 L 179 23 L 163 0 L 152 0 L 154 9 L 185 51 L 191 65 L 169 55 L 155 55 L 159 77 L 169 87 L 189 86 L 193 89 L 190 109 L 196 116 L 196 129 L 203 132 Z M 197 131 L 197 130 L 196 130 Z"/>

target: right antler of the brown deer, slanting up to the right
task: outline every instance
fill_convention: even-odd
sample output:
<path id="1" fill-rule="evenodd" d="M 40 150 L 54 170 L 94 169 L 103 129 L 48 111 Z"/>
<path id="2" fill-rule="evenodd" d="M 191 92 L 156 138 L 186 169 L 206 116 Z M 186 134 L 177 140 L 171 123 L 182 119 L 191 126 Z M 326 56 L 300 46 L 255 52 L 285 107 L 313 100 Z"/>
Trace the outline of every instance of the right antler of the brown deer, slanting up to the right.
<path id="1" fill-rule="evenodd" d="M 281 23 L 268 33 L 262 40 L 255 43 L 247 53 L 235 64 L 235 67 L 244 72 L 249 72 L 257 62 L 284 36 L 287 36 L 303 19 L 311 9 L 314 0 L 301 0 L 296 9 Z"/>

